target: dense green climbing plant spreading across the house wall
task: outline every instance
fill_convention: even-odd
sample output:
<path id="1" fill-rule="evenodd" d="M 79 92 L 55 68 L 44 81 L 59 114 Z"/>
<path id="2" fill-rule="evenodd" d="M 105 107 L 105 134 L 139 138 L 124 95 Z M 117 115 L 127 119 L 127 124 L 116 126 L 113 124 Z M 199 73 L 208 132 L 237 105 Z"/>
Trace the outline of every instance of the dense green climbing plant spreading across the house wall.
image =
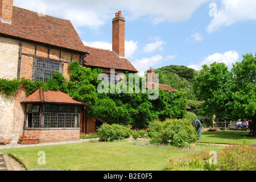
<path id="1" fill-rule="evenodd" d="M 150 93 L 142 93 L 142 88 L 139 93 L 99 93 L 97 86 L 101 81 L 98 80 L 98 75 L 102 73 L 102 69 L 81 67 L 77 61 L 70 63 L 68 68 L 70 81 L 61 73 L 54 73 L 53 78 L 47 83 L 25 78 L 1 79 L 0 92 L 11 95 L 19 88 L 26 88 L 27 94 L 33 93 L 38 88 L 60 90 L 69 94 L 74 100 L 85 103 L 89 111 L 87 117 L 101 118 L 110 124 L 125 124 L 133 127 L 146 127 L 154 120 L 182 118 L 186 114 L 186 101 L 181 98 L 180 92 L 165 92 L 159 89 L 157 100 L 149 100 Z M 128 73 L 126 76 L 129 78 Z M 142 85 L 142 78 L 139 81 Z"/>

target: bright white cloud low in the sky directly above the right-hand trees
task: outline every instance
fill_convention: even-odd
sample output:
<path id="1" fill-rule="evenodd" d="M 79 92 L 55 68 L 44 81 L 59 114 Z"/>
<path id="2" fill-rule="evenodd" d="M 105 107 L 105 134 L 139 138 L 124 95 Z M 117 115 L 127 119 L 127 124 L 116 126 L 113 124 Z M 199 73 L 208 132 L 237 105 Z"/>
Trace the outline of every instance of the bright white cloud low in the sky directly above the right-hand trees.
<path id="1" fill-rule="evenodd" d="M 232 68 L 233 63 L 239 60 L 239 55 L 236 51 L 227 51 L 225 53 L 214 53 L 213 55 L 207 56 L 205 60 L 203 60 L 199 64 L 191 64 L 189 68 L 193 68 L 195 70 L 202 69 L 202 65 L 210 65 L 214 62 L 225 63 L 227 67 Z"/>

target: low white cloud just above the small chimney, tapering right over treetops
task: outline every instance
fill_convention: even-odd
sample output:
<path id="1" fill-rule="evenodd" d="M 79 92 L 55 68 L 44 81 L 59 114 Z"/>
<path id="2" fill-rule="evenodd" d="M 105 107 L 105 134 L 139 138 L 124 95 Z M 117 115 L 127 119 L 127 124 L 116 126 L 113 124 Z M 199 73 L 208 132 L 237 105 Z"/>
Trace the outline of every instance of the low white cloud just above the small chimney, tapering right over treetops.
<path id="1" fill-rule="evenodd" d="M 174 59 L 176 56 L 177 55 L 163 57 L 162 55 L 155 55 L 152 57 L 136 59 L 135 61 L 131 62 L 131 64 L 133 64 L 134 67 L 138 70 L 138 74 L 143 76 L 144 72 L 147 71 L 147 69 L 150 67 L 154 67 L 155 65 L 161 64 L 164 61 Z"/>

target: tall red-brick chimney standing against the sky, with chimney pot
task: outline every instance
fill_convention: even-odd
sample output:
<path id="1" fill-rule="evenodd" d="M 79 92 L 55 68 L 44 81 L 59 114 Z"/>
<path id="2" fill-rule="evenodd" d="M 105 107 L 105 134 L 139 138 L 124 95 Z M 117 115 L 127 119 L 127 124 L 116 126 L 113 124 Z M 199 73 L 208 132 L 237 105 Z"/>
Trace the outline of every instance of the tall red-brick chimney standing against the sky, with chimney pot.
<path id="1" fill-rule="evenodd" d="M 122 11 L 115 13 L 113 19 L 113 40 L 112 48 L 115 53 L 125 57 L 125 18 L 122 17 Z"/>

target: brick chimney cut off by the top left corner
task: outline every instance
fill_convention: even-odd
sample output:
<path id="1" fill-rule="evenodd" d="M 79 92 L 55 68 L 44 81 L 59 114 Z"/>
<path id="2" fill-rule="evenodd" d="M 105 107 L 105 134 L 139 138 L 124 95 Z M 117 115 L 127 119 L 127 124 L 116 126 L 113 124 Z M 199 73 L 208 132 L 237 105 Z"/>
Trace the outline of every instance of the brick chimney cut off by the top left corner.
<path id="1" fill-rule="evenodd" d="M 13 0 L 0 0 L 0 20 L 11 23 L 13 17 Z"/>

